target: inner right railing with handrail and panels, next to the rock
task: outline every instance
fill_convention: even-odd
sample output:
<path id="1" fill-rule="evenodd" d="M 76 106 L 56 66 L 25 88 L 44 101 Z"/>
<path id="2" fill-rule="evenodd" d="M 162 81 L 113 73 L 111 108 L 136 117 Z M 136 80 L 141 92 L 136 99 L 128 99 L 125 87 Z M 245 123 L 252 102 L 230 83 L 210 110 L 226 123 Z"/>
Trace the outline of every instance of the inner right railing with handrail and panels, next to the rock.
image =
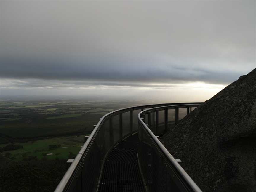
<path id="1" fill-rule="evenodd" d="M 139 138 L 138 161 L 147 191 L 201 192 L 189 175 L 159 141 L 168 129 L 168 111 L 175 110 L 175 124 L 179 120 L 179 109 L 188 114 L 192 107 L 200 104 L 168 105 L 141 111 L 138 114 Z M 159 130 L 159 112 L 164 111 L 164 127 Z M 152 123 L 152 116 L 154 121 Z"/>

